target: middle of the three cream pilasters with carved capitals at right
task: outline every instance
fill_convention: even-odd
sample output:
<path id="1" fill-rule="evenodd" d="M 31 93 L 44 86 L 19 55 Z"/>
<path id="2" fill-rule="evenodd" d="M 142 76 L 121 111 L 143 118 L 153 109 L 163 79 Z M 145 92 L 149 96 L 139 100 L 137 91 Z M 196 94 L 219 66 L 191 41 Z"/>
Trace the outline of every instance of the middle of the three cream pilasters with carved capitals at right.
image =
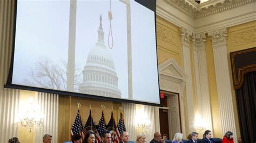
<path id="1" fill-rule="evenodd" d="M 197 113 L 203 118 L 200 123 L 205 130 L 212 131 L 211 102 L 205 51 L 205 34 L 193 34 L 194 73 L 197 90 Z"/>

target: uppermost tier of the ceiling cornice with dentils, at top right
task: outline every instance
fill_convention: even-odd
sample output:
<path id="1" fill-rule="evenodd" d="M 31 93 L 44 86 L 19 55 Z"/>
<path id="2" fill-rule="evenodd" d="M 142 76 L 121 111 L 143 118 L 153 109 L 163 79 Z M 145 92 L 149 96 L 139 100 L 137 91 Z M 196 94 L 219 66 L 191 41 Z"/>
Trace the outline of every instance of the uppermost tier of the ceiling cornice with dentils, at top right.
<path id="1" fill-rule="evenodd" d="M 215 13 L 236 8 L 244 4 L 252 3 L 255 0 L 210 0 L 205 3 L 198 4 L 193 0 L 165 0 L 170 5 L 183 11 L 188 16 L 197 19 L 206 17 Z"/>

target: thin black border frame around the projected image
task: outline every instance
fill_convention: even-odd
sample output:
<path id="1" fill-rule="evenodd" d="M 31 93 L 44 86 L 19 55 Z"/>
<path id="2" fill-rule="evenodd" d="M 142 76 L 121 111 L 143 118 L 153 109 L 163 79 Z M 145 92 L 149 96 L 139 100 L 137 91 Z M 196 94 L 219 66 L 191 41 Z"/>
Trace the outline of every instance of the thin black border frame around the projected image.
<path id="1" fill-rule="evenodd" d="M 142 4 L 143 6 L 145 6 L 146 8 L 148 8 L 148 9 L 150 9 L 154 12 L 154 26 L 155 26 L 155 33 L 156 33 L 156 58 L 157 58 L 157 62 L 158 62 L 156 0 L 147 0 L 147 1 L 135 0 L 135 1 L 138 2 L 139 4 Z M 15 0 L 14 27 L 13 27 L 13 33 L 12 33 L 13 37 L 12 37 L 11 63 L 10 63 L 8 78 L 7 78 L 6 84 L 4 85 L 4 88 L 38 91 L 38 92 L 45 92 L 45 93 L 49 93 L 49 94 L 75 96 L 75 97 L 82 97 L 82 98 L 89 98 L 89 99 L 97 99 L 97 100 L 102 100 L 102 101 L 112 101 L 112 102 L 122 102 L 122 103 L 134 103 L 134 104 L 161 106 L 158 66 L 157 66 L 157 74 L 158 74 L 159 104 L 151 103 L 151 102 L 144 102 L 144 101 L 136 101 L 136 100 L 131 100 L 131 99 L 104 97 L 104 96 L 97 96 L 97 95 L 82 94 L 82 93 L 78 93 L 78 92 L 70 92 L 70 91 L 62 91 L 62 90 L 54 90 L 54 89 L 45 89 L 45 88 L 30 87 L 30 86 L 26 86 L 26 85 L 12 84 L 12 75 L 13 75 L 13 69 L 14 69 L 14 54 L 15 54 L 15 38 L 16 38 L 17 2 L 18 2 L 18 0 Z"/>

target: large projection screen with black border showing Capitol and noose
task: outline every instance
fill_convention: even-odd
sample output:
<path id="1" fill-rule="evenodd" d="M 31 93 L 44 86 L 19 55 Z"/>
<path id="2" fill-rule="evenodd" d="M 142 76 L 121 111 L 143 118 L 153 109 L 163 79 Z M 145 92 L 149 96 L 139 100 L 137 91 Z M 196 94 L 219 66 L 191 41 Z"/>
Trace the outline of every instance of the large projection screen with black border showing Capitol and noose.
<path id="1" fill-rule="evenodd" d="M 159 105 L 156 0 L 17 0 L 6 88 Z"/>

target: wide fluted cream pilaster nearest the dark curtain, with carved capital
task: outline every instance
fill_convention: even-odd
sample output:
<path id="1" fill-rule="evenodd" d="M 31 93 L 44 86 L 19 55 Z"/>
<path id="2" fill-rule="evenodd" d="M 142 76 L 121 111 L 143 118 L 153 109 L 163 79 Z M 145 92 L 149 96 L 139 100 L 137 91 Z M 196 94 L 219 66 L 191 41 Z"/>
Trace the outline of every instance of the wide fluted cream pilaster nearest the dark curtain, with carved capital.
<path id="1" fill-rule="evenodd" d="M 235 128 L 231 83 L 227 60 L 227 30 L 226 28 L 222 30 L 215 30 L 213 32 L 208 32 L 208 35 L 212 40 L 222 134 L 225 134 L 227 131 L 231 131 L 233 132 L 233 136 L 236 138 L 237 132 Z"/>

